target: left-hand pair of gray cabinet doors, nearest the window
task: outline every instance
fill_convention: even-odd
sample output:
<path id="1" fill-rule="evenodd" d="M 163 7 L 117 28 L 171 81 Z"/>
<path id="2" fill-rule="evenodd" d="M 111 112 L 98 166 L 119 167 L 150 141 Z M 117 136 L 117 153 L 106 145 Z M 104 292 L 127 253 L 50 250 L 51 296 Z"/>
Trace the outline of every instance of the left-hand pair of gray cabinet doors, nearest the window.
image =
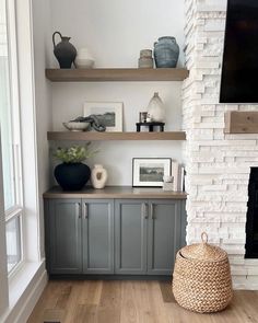
<path id="1" fill-rule="evenodd" d="M 45 210 L 49 274 L 114 273 L 112 199 L 49 199 Z"/>

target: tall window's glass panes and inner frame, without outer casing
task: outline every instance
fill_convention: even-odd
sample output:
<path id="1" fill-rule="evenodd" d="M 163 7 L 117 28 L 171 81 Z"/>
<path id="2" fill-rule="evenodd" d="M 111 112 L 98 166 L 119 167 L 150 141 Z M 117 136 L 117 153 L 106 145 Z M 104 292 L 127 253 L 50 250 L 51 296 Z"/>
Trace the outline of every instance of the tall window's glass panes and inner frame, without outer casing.
<path id="1" fill-rule="evenodd" d="M 15 42 L 12 39 L 11 45 L 10 37 L 13 37 L 13 33 L 8 30 L 5 0 L 0 0 L 0 126 L 9 273 L 23 259 L 20 112 L 15 95 L 17 71 L 13 66 Z"/>

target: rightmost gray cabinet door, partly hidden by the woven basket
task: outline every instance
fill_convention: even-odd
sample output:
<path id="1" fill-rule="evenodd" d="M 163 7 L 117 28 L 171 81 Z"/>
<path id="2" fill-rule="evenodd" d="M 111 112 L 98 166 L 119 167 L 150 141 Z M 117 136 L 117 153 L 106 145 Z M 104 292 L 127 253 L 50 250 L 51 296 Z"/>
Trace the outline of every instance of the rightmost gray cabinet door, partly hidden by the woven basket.
<path id="1" fill-rule="evenodd" d="M 172 275 L 175 255 L 180 247 L 180 201 L 149 203 L 148 274 Z"/>

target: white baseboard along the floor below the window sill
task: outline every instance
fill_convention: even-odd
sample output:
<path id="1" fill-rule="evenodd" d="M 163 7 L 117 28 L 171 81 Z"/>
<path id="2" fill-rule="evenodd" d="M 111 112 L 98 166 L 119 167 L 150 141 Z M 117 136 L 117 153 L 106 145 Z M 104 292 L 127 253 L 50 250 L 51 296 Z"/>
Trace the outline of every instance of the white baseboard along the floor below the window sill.
<path id="1" fill-rule="evenodd" d="M 19 298 L 17 302 L 5 315 L 4 323 L 25 323 L 30 318 L 35 304 L 37 303 L 43 290 L 48 281 L 48 275 L 43 262 L 31 279 L 28 286 Z"/>

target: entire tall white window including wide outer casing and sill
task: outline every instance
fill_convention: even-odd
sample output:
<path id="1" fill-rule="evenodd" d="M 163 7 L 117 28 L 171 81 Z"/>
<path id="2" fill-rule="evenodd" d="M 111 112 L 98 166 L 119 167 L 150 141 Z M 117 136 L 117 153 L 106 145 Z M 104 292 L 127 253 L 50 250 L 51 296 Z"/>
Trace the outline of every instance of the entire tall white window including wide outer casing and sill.
<path id="1" fill-rule="evenodd" d="M 32 27 L 32 1 L 0 0 L 0 322 L 23 322 L 46 279 Z"/>

